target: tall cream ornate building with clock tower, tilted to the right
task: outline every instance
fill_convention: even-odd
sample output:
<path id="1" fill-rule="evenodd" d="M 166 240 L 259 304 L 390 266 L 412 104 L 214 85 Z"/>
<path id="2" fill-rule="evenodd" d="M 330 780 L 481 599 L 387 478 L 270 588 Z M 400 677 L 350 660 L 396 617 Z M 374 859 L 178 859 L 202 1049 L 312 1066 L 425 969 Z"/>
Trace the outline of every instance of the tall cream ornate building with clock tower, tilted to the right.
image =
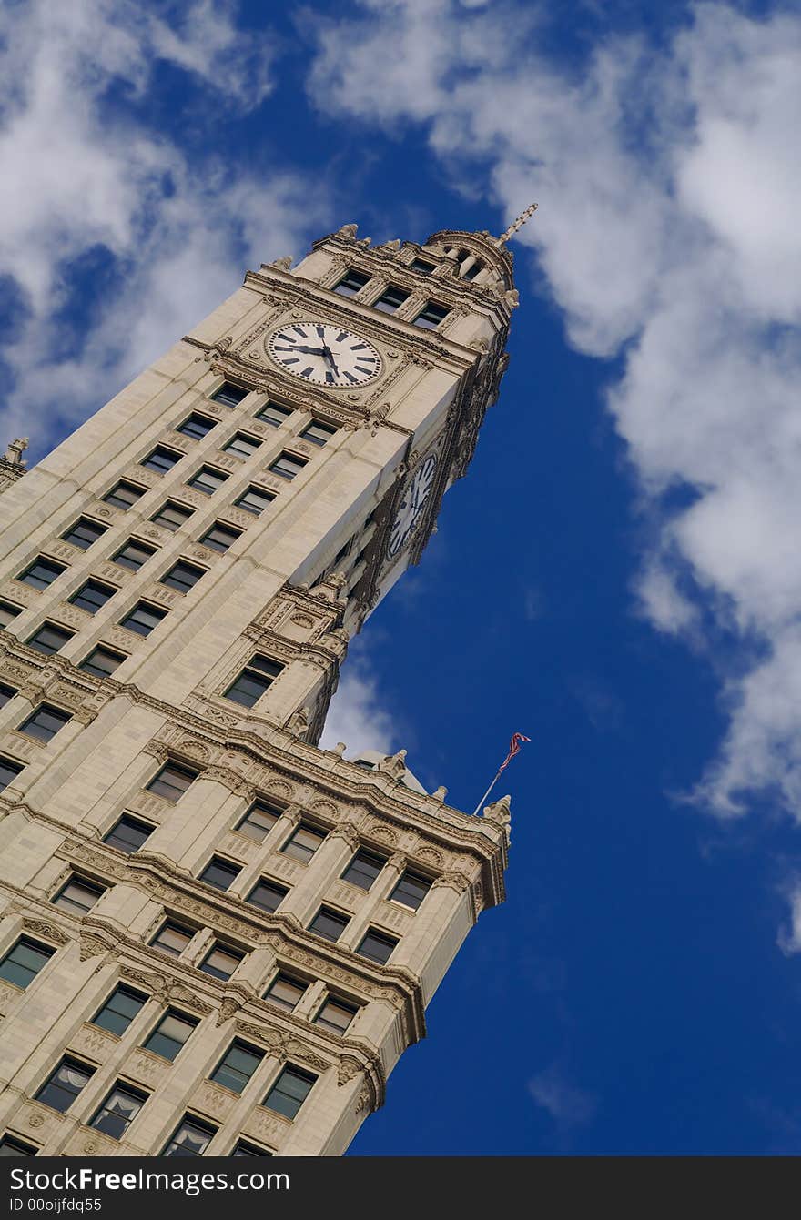
<path id="1" fill-rule="evenodd" d="M 515 304 L 503 239 L 348 224 L 0 461 L 0 1152 L 338 1155 L 382 1104 L 508 800 L 317 742 Z"/>

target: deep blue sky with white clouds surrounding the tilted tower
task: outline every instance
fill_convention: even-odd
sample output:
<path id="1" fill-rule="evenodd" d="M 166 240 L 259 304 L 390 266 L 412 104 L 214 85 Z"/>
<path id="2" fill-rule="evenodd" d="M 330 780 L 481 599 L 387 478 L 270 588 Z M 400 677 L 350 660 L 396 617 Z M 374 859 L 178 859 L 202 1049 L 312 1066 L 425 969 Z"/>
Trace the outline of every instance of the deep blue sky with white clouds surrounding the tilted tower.
<path id="1" fill-rule="evenodd" d="M 797 1152 L 797 7 L 28 0 L 0 35 L 33 460 L 247 266 L 540 204 L 501 399 L 331 715 L 465 809 L 532 737 L 508 903 L 353 1153 Z"/>

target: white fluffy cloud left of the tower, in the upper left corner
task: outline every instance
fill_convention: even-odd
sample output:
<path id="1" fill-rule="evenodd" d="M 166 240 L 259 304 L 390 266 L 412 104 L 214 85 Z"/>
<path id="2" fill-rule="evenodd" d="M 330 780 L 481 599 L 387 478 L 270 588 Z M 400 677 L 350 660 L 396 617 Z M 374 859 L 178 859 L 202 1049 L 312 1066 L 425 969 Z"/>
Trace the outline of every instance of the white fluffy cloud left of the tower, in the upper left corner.
<path id="1" fill-rule="evenodd" d="M 245 262 L 297 248 L 299 217 L 320 218 L 289 174 L 189 155 L 153 102 L 167 62 L 186 73 L 188 121 L 201 101 L 241 112 L 269 92 L 271 60 L 222 0 L 158 17 L 112 0 L 2 10 L 0 281 L 17 310 L 0 415 L 5 437 L 31 433 L 34 458 L 231 293 Z"/>

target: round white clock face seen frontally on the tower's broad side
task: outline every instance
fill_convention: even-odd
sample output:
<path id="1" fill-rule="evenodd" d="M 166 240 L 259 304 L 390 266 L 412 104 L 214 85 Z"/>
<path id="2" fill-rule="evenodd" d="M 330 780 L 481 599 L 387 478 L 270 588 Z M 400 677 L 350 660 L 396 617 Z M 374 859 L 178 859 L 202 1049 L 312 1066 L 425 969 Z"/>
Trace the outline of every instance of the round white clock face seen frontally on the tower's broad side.
<path id="1" fill-rule="evenodd" d="M 350 389 L 381 372 L 381 356 L 366 339 L 328 322 L 288 322 L 267 340 L 285 372 L 315 386 Z"/>

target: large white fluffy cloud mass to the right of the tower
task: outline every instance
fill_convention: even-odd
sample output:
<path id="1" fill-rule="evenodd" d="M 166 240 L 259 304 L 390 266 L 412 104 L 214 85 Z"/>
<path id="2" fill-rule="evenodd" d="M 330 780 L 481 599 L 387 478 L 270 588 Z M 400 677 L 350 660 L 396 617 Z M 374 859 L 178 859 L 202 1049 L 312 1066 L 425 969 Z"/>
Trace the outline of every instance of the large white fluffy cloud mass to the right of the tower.
<path id="1" fill-rule="evenodd" d="M 369 0 L 322 30 L 310 88 L 426 123 L 465 189 L 484 159 L 509 218 L 540 201 L 519 238 L 569 340 L 624 361 L 609 409 L 656 539 L 640 605 L 695 647 L 711 620 L 742 640 L 695 799 L 733 816 L 767 793 L 801 820 L 801 20 L 697 5 L 659 49 L 607 37 L 569 70 L 530 9 L 498 39 L 513 11 Z"/>

